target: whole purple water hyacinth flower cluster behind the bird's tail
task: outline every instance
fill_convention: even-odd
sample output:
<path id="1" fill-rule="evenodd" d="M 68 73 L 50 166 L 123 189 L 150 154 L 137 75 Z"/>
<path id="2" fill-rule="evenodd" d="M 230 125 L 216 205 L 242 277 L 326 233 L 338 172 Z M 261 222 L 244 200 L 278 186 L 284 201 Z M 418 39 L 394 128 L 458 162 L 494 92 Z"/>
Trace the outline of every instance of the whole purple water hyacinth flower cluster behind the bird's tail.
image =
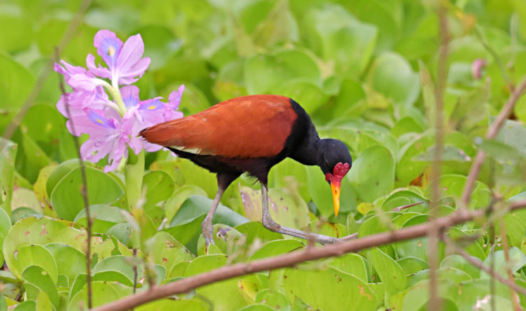
<path id="1" fill-rule="evenodd" d="M 108 157 L 104 167 L 104 172 L 108 172 L 128 157 L 128 147 L 135 154 L 142 149 L 161 149 L 140 139 L 138 134 L 148 126 L 182 117 L 177 108 L 184 86 L 170 93 L 168 102 L 160 97 L 140 100 L 139 88 L 131 84 L 142 77 L 150 63 L 149 58 L 142 57 L 144 43 L 140 34 L 123 44 L 114 32 L 100 30 L 93 43 L 107 67 L 95 66 L 95 56 L 91 54 L 86 58 L 88 69 L 64 60 L 55 63 L 55 72 L 62 74 L 72 87 L 72 92 L 60 97 L 57 109 L 68 118 L 70 133 L 90 136 L 81 146 L 81 157 L 93 162 Z"/>

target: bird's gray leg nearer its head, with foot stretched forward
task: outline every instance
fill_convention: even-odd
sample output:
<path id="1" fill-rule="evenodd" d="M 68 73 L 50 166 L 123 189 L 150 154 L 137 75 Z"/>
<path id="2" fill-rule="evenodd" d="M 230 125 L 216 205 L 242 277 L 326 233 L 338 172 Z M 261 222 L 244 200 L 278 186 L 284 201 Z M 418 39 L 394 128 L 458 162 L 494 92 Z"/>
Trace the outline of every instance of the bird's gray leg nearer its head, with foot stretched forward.
<path id="1" fill-rule="evenodd" d="M 335 243 L 335 241 L 338 241 L 338 239 L 335 237 L 328 237 L 327 235 L 304 232 L 302 230 L 292 229 L 289 227 L 283 227 L 282 225 L 279 225 L 276 222 L 274 222 L 274 220 L 272 220 L 270 216 L 269 194 L 267 192 L 268 192 L 267 185 L 265 185 L 264 183 L 261 183 L 261 193 L 262 193 L 262 199 L 263 199 L 262 223 L 263 223 L 263 226 L 266 227 L 268 230 L 278 232 L 281 234 L 292 235 L 292 237 L 299 237 L 299 238 L 306 239 L 309 241 L 316 241 L 321 244 L 332 244 L 332 243 Z"/>

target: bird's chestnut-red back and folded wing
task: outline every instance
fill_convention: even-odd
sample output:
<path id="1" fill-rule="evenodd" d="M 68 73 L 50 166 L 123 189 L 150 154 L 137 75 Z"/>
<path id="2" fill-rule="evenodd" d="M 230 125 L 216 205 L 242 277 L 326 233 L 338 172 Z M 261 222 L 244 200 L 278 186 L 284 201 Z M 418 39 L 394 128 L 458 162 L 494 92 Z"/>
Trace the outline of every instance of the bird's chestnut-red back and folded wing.
<path id="1" fill-rule="evenodd" d="M 203 156 L 271 158 L 283 150 L 297 117 L 290 98 L 249 95 L 151 126 L 141 135 L 150 143 Z"/>

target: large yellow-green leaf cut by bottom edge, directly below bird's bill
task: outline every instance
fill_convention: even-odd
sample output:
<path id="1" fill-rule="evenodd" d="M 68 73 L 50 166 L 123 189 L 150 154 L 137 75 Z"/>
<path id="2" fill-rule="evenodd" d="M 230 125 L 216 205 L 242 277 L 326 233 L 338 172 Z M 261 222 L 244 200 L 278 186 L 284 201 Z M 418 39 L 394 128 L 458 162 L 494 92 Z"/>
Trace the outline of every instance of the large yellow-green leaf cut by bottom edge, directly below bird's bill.
<path id="1" fill-rule="evenodd" d="M 289 300 L 297 296 L 316 309 L 339 310 L 342 305 L 356 307 L 355 310 L 378 307 L 376 294 L 367 283 L 331 267 L 318 271 L 286 269 L 283 277 Z"/>

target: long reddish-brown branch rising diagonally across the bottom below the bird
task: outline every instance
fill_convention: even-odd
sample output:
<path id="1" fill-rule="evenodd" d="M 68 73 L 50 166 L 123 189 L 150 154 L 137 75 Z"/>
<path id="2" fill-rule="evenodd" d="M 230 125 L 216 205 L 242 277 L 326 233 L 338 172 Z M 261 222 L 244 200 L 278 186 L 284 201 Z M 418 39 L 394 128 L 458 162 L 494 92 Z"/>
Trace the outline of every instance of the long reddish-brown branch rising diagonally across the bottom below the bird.
<path id="1" fill-rule="evenodd" d="M 515 201 L 511 204 L 510 211 L 515 209 L 524 209 L 525 207 L 526 200 Z M 440 230 L 445 230 L 448 227 L 452 227 L 460 223 L 466 223 L 475 218 L 481 218 L 485 216 L 485 212 L 486 211 L 484 209 L 477 209 L 474 211 L 459 209 L 454 213 L 451 213 L 449 216 L 438 218 L 435 221 Z M 236 263 L 235 265 L 220 267 L 209 272 L 187 277 L 186 279 L 164 284 L 163 286 L 153 286 L 148 291 L 142 291 L 140 293 L 136 293 L 135 295 L 122 298 L 121 300 L 108 303 L 107 305 L 95 307 L 93 310 L 128 310 L 133 307 L 137 307 L 137 305 L 143 305 L 144 303 L 149 303 L 153 300 L 172 296 L 177 293 L 187 293 L 200 286 L 220 282 L 233 277 L 240 277 L 245 274 L 274 270 L 283 267 L 293 267 L 298 263 L 303 263 L 309 260 L 342 256 L 344 253 L 357 252 L 363 249 L 370 249 L 371 247 L 375 246 L 391 244 L 396 241 L 405 241 L 408 239 L 415 239 L 417 237 L 424 237 L 429 231 L 429 225 L 430 223 L 424 223 L 422 225 L 415 225 L 397 231 L 372 234 L 352 241 L 345 241 L 342 243 L 330 244 L 321 247 L 313 247 L 303 251 L 294 251 L 292 253 L 285 253 L 280 256 L 254 260 L 250 263 Z"/>

